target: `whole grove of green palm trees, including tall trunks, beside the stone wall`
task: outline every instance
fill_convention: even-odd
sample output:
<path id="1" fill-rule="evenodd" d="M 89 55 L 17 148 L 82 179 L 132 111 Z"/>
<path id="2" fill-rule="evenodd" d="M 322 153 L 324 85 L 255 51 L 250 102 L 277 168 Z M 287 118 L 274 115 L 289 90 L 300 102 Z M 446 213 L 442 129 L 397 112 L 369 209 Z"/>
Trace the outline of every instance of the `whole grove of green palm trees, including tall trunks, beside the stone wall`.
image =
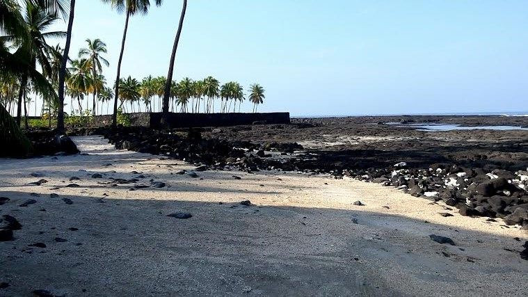
<path id="1" fill-rule="evenodd" d="M 229 82 L 220 86 L 218 80 L 207 77 L 193 81 L 189 78 L 173 81 L 175 56 L 182 33 L 187 0 L 179 19 L 173 51 L 167 77 L 147 77 L 137 81 L 131 77 L 121 77 L 121 64 L 125 52 L 128 25 L 131 17 L 146 15 L 150 8 L 149 0 L 102 0 L 109 3 L 118 12 L 125 13 L 120 56 L 117 65 L 117 77 L 113 88 L 107 86 L 102 74 L 104 66 L 109 66 L 104 57 L 106 45 L 102 40 L 86 40 L 87 47 L 79 51 L 77 58 L 70 57 L 70 42 L 74 28 L 75 0 L 0 0 L 0 109 L 16 115 L 17 125 L 21 124 L 22 107 L 28 115 L 28 104 L 36 97 L 42 98 L 41 114 L 50 119 L 57 118 L 57 128 L 64 129 L 65 97 L 70 97 L 70 115 L 77 110 L 93 115 L 106 113 L 113 104 L 113 125 L 119 107 L 125 111 L 161 111 L 166 115 L 170 111 L 216 112 L 239 110 L 245 99 L 239 83 Z M 153 1 L 161 6 L 162 0 Z M 67 31 L 49 31 L 58 19 L 67 19 Z M 49 45 L 57 38 L 66 38 L 65 47 Z M 31 95 L 35 98 L 31 99 Z M 92 106 L 88 97 L 92 97 Z M 86 107 L 82 101 L 86 98 Z M 253 111 L 264 99 L 264 89 L 258 84 L 250 87 L 248 99 L 253 103 Z M 113 102 L 112 102 L 113 101 Z M 75 103 L 74 103 L 75 102 Z M 74 109 L 77 105 L 77 109 Z M 178 108 L 179 106 L 179 108 Z M 84 112 L 83 112 L 84 111 Z M 26 125 L 27 125 L 27 116 Z"/>

